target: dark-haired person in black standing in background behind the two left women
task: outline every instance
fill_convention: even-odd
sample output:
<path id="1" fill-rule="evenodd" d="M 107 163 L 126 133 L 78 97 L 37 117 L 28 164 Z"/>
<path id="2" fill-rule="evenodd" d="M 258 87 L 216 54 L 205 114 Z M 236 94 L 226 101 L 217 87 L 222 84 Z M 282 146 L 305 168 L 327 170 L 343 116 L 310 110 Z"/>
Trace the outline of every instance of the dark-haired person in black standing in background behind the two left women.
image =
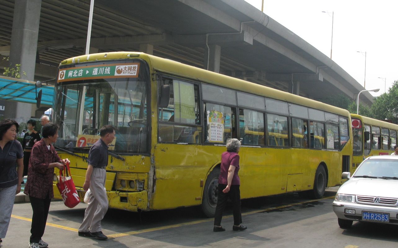
<path id="1" fill-rule="evenodd" d="M 25 136 L 23 136 L 23 141 L 22 141 L 22 148 L 23 148 L 23 175 L 22 175 L 22 183 L 23 183 L 23 177 L 27 176 L 27 170 L 29 167 L 29 158 L 30 158 L 30 153 L 32 151 L 33 145 L 39 141 L 40 134 L 35 131 L 35 126 L 36 126 L 36 121 L 35 120 L 28 120 L 27 121 L 27 130 L 28 132 L 25 133 Z"/>

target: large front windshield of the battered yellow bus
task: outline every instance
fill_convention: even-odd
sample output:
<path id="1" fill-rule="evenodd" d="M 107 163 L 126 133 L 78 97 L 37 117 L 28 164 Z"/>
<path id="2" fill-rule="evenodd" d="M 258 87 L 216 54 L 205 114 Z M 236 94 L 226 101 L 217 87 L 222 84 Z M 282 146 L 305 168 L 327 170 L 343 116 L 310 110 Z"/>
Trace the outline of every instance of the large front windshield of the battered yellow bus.
<path id="1" fill-rule="evenodd" d="M 54 118 L 60 130 L 55 145 L 72 151 L 88 149 L 100 138 L 101 127 L 109 124 L 117 129 L 114 144 L 109 145 L 113 153 L 148 152 L 148 82 L 148 76 L 141 76 L 58 83 Z M 79 125 L 84 90 L 82 125 Z"/>

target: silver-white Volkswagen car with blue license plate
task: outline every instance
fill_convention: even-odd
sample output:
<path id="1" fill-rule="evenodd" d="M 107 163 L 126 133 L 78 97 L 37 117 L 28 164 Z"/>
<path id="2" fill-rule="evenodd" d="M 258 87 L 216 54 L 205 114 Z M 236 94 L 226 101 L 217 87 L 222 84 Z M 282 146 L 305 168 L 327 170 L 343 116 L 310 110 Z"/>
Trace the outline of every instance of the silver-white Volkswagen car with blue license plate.
<path id="1" fill-rule="evenodd" d="M 341 228 L 353 221 L 398 224 L 398 156 L 371 156 L 340 186 L 333 211 Z"/>

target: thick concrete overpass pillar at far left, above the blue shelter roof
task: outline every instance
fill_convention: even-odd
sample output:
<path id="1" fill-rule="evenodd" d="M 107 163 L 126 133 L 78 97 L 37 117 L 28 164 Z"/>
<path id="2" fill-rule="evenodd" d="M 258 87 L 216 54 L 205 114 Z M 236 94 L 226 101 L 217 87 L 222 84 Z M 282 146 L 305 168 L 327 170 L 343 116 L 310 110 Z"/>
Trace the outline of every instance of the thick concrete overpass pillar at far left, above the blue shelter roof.
<path id="1" fill-rule="evenodd" d="M 40 10 L 41 0 L 15 0 L 10 65 L 21 64 L 21 79 L 34 81 Z"/>

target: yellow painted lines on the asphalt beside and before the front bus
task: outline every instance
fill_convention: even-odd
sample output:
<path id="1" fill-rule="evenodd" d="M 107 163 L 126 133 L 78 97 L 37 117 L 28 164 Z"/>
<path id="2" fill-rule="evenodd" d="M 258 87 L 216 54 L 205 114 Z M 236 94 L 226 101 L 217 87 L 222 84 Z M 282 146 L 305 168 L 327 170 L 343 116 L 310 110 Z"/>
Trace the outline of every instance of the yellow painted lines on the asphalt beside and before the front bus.
<path id="1" fill-rule="evenodd" d="M 251 211 L 251 212 L 242 213 L 242 215 L 250 215 L 250 214 L 254 214 L 254 213 L 262 213 L 262 212 L 265 212 L 265 211 L 281 209 L 281 208 L 285 208 L 285 207 L 292 207 L 292 206 L 295 206 L 295 205 L 300 205 L 300 204 L 309 203 L 309 202 L 318 202 L 318 201 L 321 201 L 321 200 L 326 200 L 326 199 L 331 199 L 331 198 L 334 198 L 334 196 L 324 197 L 324 198 L 316 199 L 316 200 L 308 200 L 308 201 L 304 201 L 304 202 L 297 202 L 297 203 L 282 205 L 282 206 L 279 206 L 279 207 L 269 207 L 269 208 L 266 208 L 266 209 L 260 209 L 260 210 L 255 210 L 255 211 Z M 16 219 L 21 219 L 21 220 L 24 220 L 24 221 L 32 222 L 32 219 L 21 217 L 21 216 L 18 216 L 18 215 L 11 215 L 11 217 L 16 218 Z M 225 218 L 230 218 L 230 217 L 233 217 L 233 215 L 226 215 L 226 216 L 223 216 L 222 218 L 225 219 Z M 153 231 L 160 231 L 160 230 L 169 229 L 169 228 L 183 227 L 183 226 L 187 226 L 187 225 L 194 225 L 194 224 L 210 222 L 210 221 L 213 221 L 213 219 L 203 219 L 203 220 L 200 220 L 200 221 L 191 221 L 191 222 L 186 222 L 186 223 L 167 225 L 167 226 L 163 226 L 163 227 L 154 227 L 154 228 L 142 229 L 142 230 L 131 231 L 131 232 L 126 232 L 126 233 L 115 233 L 115 234 L 108 235 L 108 237 L 117 238 L 117 237 L 140 234 L 140 233 L 148 233 L 148 232 L 153 232 Z M 61 225 L 57 225 L 57 224 L 53 224 L 53 223 L 48 223 L 48 222 L 46 223 L 46 225 L 50 226 L 50 227 L 57 227 L 57 228 L 60 228 L 60 229 L 73 231 L 73 232 L 77 232 L 78 231 L 78 229 L 75 229 L 75 228 L 65 227 L 65 226 L 61 226 Z M 346 246 L 345 248 L 358 248 L 358 246 Z"/>

